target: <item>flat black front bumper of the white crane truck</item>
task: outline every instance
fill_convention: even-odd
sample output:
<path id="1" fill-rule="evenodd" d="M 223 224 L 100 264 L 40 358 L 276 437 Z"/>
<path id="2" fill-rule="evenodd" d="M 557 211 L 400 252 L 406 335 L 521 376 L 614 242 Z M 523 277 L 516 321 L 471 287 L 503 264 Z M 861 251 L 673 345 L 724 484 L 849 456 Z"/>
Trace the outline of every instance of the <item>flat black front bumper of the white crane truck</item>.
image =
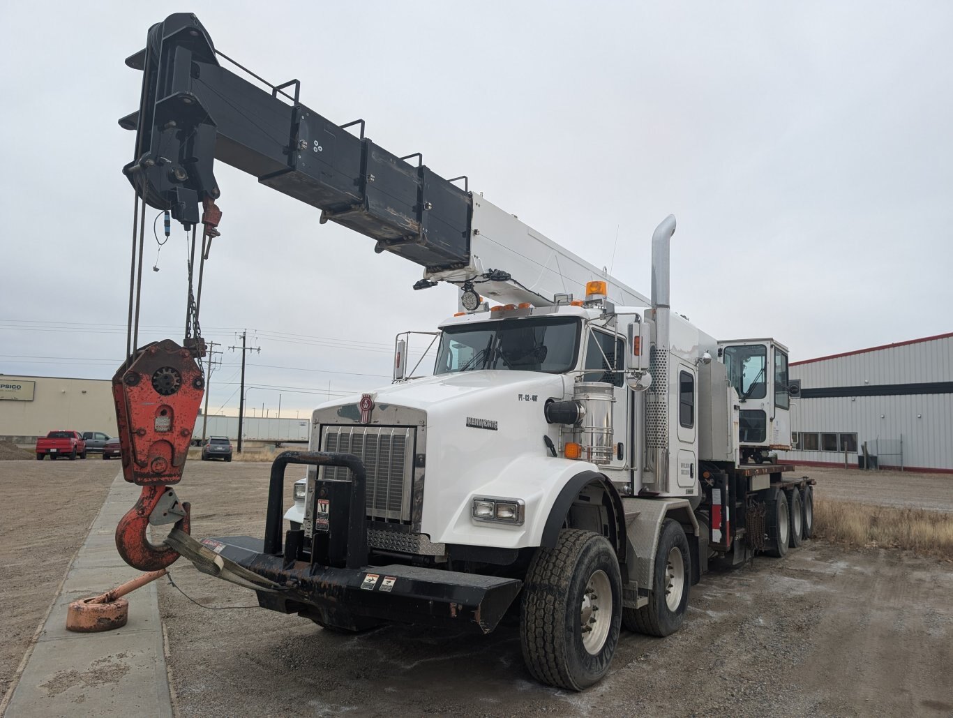
<path id="1" fill-rule="evenodd" d="M 522 585 L 517 579 L 401 564 L 337 568 L 285 561 L 283 556 L 264 553 L 264 543 L 250 536 L 201 543 L 278 586 L 256 590 L 258 605 L 342 628 L 391 622 L 489 633 Z"/>

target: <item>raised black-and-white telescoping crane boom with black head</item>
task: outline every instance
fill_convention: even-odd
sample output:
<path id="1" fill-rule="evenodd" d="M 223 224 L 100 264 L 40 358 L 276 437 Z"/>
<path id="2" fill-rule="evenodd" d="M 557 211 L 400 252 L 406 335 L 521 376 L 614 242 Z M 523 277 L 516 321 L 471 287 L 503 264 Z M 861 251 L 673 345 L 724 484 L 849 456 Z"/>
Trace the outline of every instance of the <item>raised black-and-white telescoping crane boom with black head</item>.
<path id="1" fill-rule="evenodd" d="M 449 281 L 499 301 L 555 303 L 608 281 L 618 304 L 638 292 L 540 235 L 479 195 L 465 176 L 448 180 L 421 154 L 398 155 L 365 136 L 364 120 L 338 125 L 299 101 L 297 80 L 246 79 L 219 64 L 208 31 L 191 13 L 153 25 L 145 50 L 126 60 L 143 71 L 139 110 L 119 124 L 136 132 L 123 169 L 150 206 L 187 226 L 221 195 L 215 159 L 321 210 L 424 267 L 416 288 Z M 237 68 L 236 68 L 237 69 Z M 460 187 L 459 184 L 463 186 Z"/>

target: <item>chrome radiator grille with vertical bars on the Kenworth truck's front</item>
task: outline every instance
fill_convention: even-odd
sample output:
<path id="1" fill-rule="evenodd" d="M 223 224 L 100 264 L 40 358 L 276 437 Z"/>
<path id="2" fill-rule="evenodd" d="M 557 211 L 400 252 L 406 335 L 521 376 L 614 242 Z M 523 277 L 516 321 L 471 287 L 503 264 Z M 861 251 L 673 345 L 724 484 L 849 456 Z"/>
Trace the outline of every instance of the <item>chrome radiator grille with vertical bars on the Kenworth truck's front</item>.
<path id="1" fill-rule="evenodd" d="M 414 432 L 410 426 L 325 426 L 321 450 L 354 454 L 367 470 L 367 515 L 411 520 Z M 350 479 L 344 466 L 324 466 L 321 478 Z"/>

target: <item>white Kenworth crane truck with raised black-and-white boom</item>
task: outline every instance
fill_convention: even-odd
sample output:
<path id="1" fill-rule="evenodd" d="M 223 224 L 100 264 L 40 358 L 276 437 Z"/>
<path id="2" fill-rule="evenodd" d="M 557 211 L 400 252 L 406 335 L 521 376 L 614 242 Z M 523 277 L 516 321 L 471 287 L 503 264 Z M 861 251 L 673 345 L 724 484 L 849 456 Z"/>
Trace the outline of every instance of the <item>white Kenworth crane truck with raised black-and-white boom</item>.
<path id="1" fill-rule="evenodd" d="M 439 327 L 434 376 L 401 366 L 314 411 L 311 451 L 272 467 L 263 541 L 199 542 L 179 525 L 163 550 L 338 631 L 489 632 L 509 613 L 537 680 L 579 690 L 606 673 L 622 626 L 678 630 L 709 564 L 810 536 L 811 480 L 759 465 L 761 446 L 789 446 L 786 349 L 719 341 L 672 312 L 675 217 L 652 238 L 644 297 L 296 89 L 279 96 L 294 83 L 267 92 L 224 70 L 193 15 L 153 26 L 127 62 L 146 75 L 122 124 L 138 131 L 126 173 L 147 203 L 197 224 L 223 159 L 422 264 L 417 289 L 456 285 L 463 310 Z M 172 370 L 158 371 L 161 387 Z M 283 513 L 290 463 L 309 473 Z"/>

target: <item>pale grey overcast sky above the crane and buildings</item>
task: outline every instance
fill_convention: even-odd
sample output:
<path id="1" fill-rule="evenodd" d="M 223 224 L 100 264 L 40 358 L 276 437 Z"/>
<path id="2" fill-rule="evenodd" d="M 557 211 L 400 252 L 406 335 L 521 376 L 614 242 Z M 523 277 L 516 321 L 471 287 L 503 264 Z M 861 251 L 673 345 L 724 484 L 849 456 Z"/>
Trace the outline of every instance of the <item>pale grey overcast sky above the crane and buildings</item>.
<path id="1" fill-rule="evenodd" d="M 210 3 L 219 51 L 338 123 L 362 117 L 649 292 L 652 231 L 678 217 L 672 305 L 719 338 L 810 359 L 953 329 L 953 5 Z M 0 373 L 108 379 L 123 360 L 141 73 L 171 10 L 5 2 L 0 23 Z M 270 416 L 391 377 L 397 332 L 456 290 L 216 165 L 224 216 L 202 302 L 226 347 L 210 411 Z M 149 221 L 156 213 L 150 210 Z M 161 220 L 159 221 L 161 235 Z M 618 244 L 617 244 L 618 235 Z M 151 230 L 140 343 L 181 339 L 186 243 Z M 613 259 L 613 256 L 615 258 Z M 280 367 L 280 368 L 279 368 Z M 294 416 L 294 415 L 293 415 Z"/>

